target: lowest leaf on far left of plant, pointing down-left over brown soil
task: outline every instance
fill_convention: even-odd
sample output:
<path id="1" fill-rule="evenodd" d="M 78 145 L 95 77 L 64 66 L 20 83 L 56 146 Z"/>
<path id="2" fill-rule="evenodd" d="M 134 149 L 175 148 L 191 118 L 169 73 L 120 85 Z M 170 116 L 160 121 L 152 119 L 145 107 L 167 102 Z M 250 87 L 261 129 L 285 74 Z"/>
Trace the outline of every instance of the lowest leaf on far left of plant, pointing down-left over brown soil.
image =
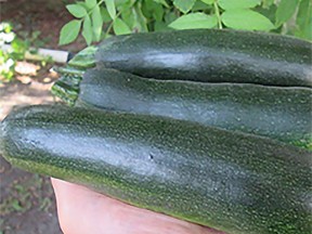
<path id="1" fill-rule="evenodd" d="M 78 20 L 73 20 L 67 24 L 65 24 L 60 32 L 58 44 L 63 46 L 73 42 L 78 37 L 80 27 L 81 27 L 81 21 Z"/>

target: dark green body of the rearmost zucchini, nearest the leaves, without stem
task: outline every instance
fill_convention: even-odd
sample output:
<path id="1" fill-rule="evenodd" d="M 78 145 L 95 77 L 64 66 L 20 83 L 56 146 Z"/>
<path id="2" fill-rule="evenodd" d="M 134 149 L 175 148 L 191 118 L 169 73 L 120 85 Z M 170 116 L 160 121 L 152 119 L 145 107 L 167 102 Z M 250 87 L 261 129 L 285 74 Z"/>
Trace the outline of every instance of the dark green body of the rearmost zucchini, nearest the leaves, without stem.
<path id="1" fill-rule="evenodd" d="M 312 44 L 220 29 L 132 34 L 104 40 L 99 65 L 157 79 L 312 87 Z"/>

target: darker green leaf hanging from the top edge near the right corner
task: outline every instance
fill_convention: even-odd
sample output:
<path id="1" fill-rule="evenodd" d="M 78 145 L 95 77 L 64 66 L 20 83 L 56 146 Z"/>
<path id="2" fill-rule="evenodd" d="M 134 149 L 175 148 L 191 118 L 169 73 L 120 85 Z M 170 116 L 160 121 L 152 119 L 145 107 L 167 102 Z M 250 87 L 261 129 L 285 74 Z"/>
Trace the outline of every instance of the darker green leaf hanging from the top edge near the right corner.
<path id="1" fill-rule="evenodd" d="M 277 6 L 275 25 L 278 27 L 287 22 L 295 13 L 299 0 L 282 0 Z"/>

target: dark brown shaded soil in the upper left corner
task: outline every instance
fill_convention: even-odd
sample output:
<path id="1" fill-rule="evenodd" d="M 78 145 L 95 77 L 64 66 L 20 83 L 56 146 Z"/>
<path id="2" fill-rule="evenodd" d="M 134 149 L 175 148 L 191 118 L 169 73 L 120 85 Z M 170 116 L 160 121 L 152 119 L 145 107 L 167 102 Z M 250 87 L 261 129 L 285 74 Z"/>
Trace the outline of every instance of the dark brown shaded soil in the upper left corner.
<path id="1" fill-rule="evenodd" d="M 65 5 L 74 0 L 0 0 L 0 22 L 13 24 L 20 38 L 32 46 L 77 52 L 86 47 L 82 37 L 75 43 L 58 46 L 61 28 L 73 20 Z M 40 34 L 39 34 L 40 32 Z M 39 34 L 38 38 L 35 35 Z"/>

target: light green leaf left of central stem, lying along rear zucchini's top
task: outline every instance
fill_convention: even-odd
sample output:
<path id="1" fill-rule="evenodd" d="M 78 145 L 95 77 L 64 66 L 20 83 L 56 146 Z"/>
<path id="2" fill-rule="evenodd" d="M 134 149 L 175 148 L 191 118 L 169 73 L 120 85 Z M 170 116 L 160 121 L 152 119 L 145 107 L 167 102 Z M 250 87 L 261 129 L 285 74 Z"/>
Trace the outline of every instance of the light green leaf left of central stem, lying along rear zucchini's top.
<path id="1" fill-rule="evenodd" d="M 211 16 L 197 12 L 182 15 L 172 22 L 169 27 L 174 29 L 213 28 L 217 24 L 218 20 L 216 15 Z"/>

